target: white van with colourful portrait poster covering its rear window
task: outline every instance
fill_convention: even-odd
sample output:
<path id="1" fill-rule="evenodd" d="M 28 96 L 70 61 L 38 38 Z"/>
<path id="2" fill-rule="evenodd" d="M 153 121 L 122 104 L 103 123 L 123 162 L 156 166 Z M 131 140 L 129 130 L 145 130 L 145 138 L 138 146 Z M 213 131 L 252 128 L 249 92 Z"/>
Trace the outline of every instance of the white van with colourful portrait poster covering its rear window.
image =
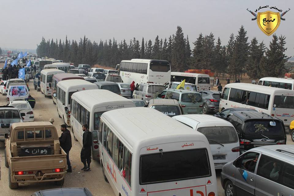
<path id="1" fill-rule="evenodd" d="M 23 84 L 11 84 L 9 85 L 8 93 L 6 96 L 7 101 L 24 100 L 28 98 L 28 87 Z"/>

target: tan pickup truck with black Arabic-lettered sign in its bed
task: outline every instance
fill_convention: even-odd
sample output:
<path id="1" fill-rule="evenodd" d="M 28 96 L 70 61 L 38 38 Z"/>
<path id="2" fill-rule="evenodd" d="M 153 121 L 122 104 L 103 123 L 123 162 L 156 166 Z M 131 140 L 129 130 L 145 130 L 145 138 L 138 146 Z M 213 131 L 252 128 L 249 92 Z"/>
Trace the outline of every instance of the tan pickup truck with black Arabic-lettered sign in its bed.
<path id="1" fill-rule="evenodd" d="M 5 140 L 5 166 L 10 189 L 18 183 L 64 183 L 66 153 L 50 122 L 13 123 Z"/>

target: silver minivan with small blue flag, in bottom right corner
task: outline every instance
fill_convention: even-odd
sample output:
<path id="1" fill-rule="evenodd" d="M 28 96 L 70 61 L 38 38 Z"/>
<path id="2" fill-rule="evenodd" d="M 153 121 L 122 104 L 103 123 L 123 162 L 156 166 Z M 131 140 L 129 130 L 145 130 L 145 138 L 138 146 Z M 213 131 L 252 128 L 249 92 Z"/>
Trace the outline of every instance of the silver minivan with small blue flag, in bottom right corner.
<path id="1" fill-rule="evenodd" d="M 224 165 L 221 185 L 226 196 L 293 195 L 293 145 L 268 145 L 248 150 Z"/>

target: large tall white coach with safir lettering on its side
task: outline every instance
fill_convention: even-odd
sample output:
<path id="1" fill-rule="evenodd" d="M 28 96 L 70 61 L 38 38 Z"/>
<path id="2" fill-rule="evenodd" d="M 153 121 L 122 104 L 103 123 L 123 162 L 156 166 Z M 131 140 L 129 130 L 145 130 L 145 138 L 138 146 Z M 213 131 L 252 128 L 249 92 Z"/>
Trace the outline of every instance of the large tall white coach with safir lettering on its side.
<path id="1" fill-rule="evenodd" d="M 171 66 L 164 60 L 124 60 L 120 62 L 119 72 L 124 83 L 135 81 L 135 86 L 141 83 L 165 84 L 171 78 Z"/>

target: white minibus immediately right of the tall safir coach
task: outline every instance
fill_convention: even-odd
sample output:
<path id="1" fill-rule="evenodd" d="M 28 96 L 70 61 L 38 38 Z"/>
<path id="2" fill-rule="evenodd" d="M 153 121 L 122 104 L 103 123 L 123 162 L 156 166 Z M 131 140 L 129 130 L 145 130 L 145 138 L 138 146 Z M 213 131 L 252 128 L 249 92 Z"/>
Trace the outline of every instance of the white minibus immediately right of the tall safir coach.
<path id="1" fill-rule="evenodd" d="M 195 84 L 198 91 L 210 90 L 210 78 L 208 74 L 194 74 L 184 72 L 171 72 L 171 82 L 185 82 Z"/>

